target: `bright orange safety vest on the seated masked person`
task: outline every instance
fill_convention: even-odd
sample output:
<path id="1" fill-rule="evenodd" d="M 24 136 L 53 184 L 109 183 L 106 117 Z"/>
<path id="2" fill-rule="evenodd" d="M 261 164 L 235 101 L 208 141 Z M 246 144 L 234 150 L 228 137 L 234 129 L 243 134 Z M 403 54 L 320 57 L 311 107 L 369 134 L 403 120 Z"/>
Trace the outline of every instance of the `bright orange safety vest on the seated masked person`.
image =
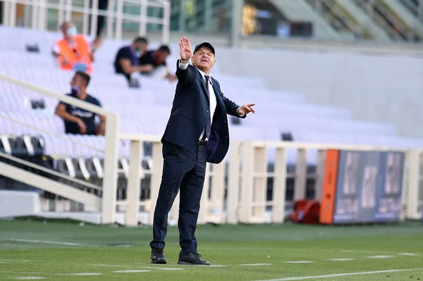
<path id="1" fill-rule="evenodd" d="M 75 50 L 72 49 L 71 45 L 65 40 L 61 39 L 57 42 L 59 46 L 59 54 L 65 56 L 68 64 L 63 63 L 63 58 L 59 56 L 60 67 L 63 70 L 73 70 L 75 63 L 87 63 L 87 73 L 92 73 L 92 61 L 90 46 L 85 41 L 84 35 L 75 35 L 73 37 L 75 42 Z M 78 53 L 78 54 L 77 54 Z"/>

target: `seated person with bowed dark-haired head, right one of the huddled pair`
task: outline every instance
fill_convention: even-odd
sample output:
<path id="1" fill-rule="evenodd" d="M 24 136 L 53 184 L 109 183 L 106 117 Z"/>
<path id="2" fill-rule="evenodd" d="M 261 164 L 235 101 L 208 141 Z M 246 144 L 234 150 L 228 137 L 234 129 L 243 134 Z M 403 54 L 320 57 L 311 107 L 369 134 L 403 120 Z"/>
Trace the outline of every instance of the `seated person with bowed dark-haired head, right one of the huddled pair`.
<path id="1" fill-rule="evenodd" d="M 143 75 L 152 77 L 166 78 L 169 81 L 175 81 L 176 75 L 172 74 L 166 68 L 166 58 L 171 54 L 171 49 L 166 45 L 161 45 L 159 49 L 147 51 L 140 57 L 140 65 L 153 65 L 154 71 L 141 71 Z"/>

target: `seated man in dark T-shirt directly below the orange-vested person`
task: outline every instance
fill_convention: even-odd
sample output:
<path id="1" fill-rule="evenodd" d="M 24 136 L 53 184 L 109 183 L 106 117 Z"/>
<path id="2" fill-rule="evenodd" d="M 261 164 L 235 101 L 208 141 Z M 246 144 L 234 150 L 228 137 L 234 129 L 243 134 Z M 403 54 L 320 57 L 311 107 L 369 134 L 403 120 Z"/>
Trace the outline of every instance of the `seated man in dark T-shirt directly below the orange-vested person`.
<path id="1" fill-rule="evenodd" d="M 102 106 L 98 99 L 87 94 L 86 90 L 88 84 L 90 84 L 90 75 L 81 71 L 76 72 L 71 81 L 72 93 L 66 94 L 66 96 L 72 96 L 75 99 L 87 101 L 95 106 Z M 72 106 L 71 104 L 66 104 L 62 101 L 56 106 L 55 114 L 64 120 L 66 134 L 104 135 L 106 118 L 102 115 L 99 115 L 100 123 L 96 127 L 95 113 Z"/>

